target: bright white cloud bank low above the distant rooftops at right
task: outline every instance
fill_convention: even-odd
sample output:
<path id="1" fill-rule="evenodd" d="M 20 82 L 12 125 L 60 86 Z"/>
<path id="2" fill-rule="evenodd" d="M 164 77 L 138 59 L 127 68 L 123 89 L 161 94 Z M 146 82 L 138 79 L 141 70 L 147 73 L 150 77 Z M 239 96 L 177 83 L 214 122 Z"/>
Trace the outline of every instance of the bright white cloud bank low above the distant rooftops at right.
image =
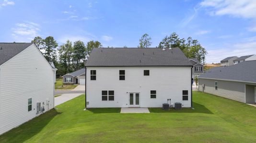
<path id="1" fill-rule="evenodd" d="M 256 54 L 256 37 L 247 38 L 248 41 L 226 45 L 225 48 L 209 50 L 206 56 L 207 63 L 220 62 L 230 56 L 245 56 Z"/>

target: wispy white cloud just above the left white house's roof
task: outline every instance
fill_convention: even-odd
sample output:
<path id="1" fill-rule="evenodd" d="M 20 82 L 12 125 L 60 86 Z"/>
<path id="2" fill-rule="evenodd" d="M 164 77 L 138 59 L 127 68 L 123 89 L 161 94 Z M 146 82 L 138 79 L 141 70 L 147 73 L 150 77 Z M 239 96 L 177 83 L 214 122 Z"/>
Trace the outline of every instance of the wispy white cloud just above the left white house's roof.
<path id="1" fill-rule="evenodd" d="M 40 31 L 39 26 L 34 22 L 16 23 L 12 28 L 12 36 L 14 39 L 33 39 Z"/>

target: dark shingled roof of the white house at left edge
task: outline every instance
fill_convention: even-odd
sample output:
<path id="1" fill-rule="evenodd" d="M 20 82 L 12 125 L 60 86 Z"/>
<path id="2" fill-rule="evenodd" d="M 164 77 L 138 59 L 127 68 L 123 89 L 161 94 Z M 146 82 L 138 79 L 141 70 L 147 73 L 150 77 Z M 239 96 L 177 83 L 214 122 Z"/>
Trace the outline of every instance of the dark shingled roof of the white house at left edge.
<path id="1" fill-rule="evenodd" d="M 0 65 L 26 49 L 33 43 L 0 43 Z"/>

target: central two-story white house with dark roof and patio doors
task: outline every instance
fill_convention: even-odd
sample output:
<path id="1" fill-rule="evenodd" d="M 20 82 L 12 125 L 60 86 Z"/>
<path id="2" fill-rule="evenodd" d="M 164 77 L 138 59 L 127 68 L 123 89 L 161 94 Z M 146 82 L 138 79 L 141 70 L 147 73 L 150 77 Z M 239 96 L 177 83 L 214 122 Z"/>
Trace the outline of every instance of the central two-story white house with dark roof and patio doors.
<path id="1" fill-rule="evenodd" d="M 179 48 L 94 48 L 86 107 L 162 107 L 168 99 L 191 107 L 192 66 Z"/>

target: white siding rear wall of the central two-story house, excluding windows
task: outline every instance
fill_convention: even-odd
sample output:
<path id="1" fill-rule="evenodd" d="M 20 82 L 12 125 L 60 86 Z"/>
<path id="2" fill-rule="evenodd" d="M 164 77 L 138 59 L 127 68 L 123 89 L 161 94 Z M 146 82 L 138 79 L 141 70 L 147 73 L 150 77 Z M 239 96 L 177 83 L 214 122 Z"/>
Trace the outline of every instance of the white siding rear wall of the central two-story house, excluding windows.
<path id="1" fill-rule="evenodd" d="M 90 80 L 90 71 L 97 71 L 97 80 Z M 125 81 L 119 80 L 119 70 L 125 70 Z M 144 76 L 150 70 L 150 76 Z M 129 92 L 140 93 L 140 107 L 162 107 L 181 102 L 191 107 L 191 67 L 87 67 L 86 93 L 88 108 L 129 107 Z M 157 91 L 151 99 L 151 90 Z M 182 100 L 182 91 L 188 91 L 188 100 Z M 102 91 L 115 91 L 115 101 L 102 101 Z"/>

